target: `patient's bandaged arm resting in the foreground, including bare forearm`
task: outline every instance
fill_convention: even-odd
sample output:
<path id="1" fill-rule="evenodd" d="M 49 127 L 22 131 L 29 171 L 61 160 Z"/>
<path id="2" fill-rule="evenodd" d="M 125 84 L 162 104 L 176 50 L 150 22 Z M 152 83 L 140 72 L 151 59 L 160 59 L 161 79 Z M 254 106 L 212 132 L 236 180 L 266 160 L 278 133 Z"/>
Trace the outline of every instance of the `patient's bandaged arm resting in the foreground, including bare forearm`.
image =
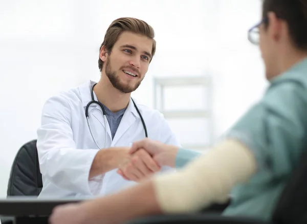
<path id="1" fill-rule="evenodd" d="M 251 151 L 239 142 L 228 140 L 176 173 L 156 176 L 117 194 L 81 203 L 72 210 L 60 206 L 50 221 L 119 224 L 144 215 L 196 211 L 227 200 L 229 191 L 247 181 L 255 170 Z M 86 214 L 84 222 L 69 219 L 73 213 L 81 212 Z"/>

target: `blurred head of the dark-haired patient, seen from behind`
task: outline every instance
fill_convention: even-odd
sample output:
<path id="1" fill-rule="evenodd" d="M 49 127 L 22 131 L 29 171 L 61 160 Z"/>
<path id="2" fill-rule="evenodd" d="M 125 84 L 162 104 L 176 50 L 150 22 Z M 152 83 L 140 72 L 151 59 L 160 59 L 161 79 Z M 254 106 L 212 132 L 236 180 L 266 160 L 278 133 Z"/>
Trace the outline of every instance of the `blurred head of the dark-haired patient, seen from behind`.
<path id="1" fill-rule="evenodd" d="M 307 55 L 307 0 L 264 0 L 256 29 L 271 79 Z"/>

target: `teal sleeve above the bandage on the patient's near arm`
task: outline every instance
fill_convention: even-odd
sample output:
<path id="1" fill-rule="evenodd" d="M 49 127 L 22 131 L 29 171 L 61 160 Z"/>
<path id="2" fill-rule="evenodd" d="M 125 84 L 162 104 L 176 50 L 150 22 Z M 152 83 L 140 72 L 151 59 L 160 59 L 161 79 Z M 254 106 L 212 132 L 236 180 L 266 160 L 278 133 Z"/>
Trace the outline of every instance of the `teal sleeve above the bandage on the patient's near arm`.
<path id="1" fill-rule="evenodd" d="M 229 131 L 250 148 L 258 169 L 275 176 L 288 174 L 305 146 L 307 94 L 299 81 L 272 85 Z"/>

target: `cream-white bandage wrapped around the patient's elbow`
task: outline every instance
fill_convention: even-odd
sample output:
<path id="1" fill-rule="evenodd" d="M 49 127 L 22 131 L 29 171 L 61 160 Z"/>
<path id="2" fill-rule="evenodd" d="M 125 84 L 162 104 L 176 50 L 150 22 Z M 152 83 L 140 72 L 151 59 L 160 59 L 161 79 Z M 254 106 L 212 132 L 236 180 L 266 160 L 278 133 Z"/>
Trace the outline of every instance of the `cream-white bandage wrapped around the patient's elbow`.
<path id="1" fill-rule="evenodd" d="M 193 212 L 228 199 L 231 189 L 256 171 L 253 153 L 235 140 L 226 140 L 176 173 L 153 180 L 165 213 Z"/>

